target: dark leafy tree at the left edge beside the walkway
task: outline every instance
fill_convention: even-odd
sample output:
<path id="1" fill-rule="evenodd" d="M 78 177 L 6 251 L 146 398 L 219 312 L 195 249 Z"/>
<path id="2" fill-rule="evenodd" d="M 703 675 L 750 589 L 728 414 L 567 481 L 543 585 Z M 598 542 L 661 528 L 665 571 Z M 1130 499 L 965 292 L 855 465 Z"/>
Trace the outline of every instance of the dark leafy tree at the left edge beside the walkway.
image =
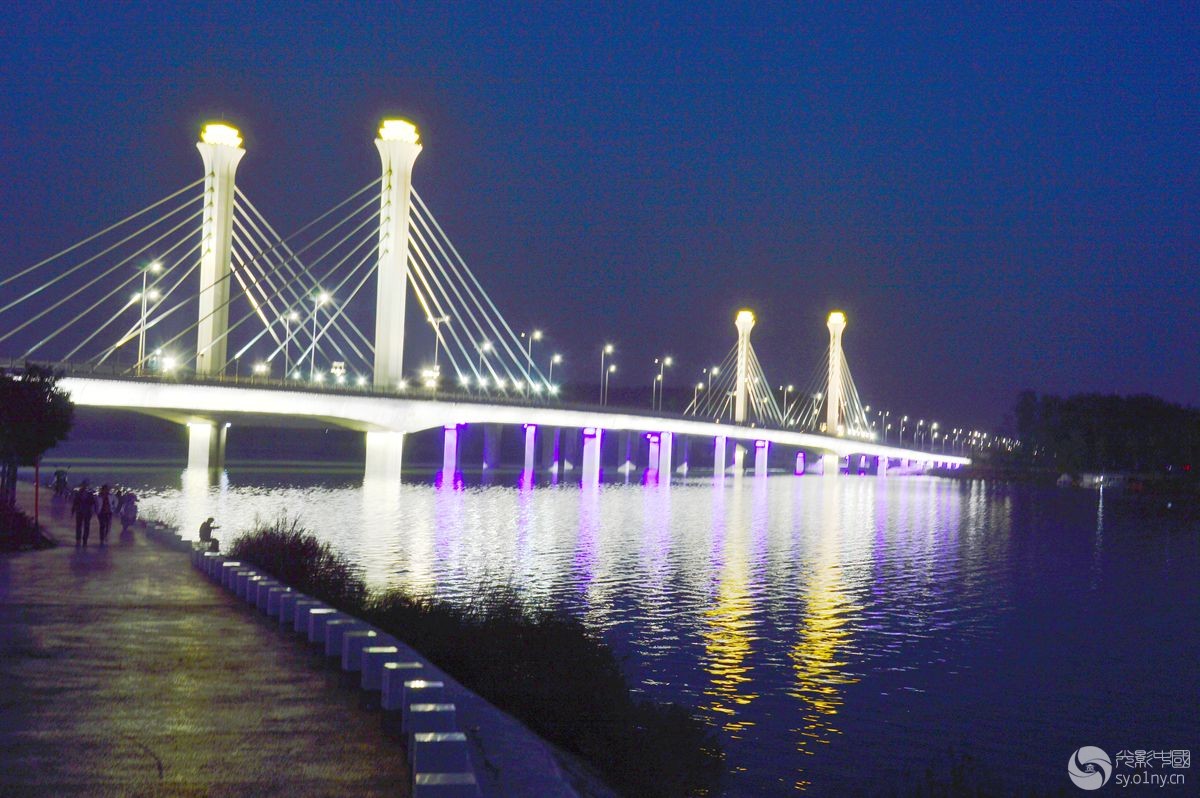
<path id="1" fill-rule="evenodd" d="M 17 468 L 36 466 L 65 440 L 74 404 L 49 368 L 25 364 L 17 373 L 0 370 L 0 521 L 7 526 L 17 505 Z"/>

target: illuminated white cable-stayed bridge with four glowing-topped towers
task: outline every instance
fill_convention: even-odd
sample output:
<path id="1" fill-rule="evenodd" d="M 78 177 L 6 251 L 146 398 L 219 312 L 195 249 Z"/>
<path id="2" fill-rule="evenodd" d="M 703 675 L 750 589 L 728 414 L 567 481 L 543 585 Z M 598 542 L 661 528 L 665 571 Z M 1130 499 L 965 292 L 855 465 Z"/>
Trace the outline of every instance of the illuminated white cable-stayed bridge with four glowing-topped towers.
<path id="1" fill-rule="evenodd" d="M 533 334 L 505 322 L 413 187 L 416 128 L 386 120 L 376 146 L 380 176 L 284 238 L 235 184 L 240 133 L 208 125 L 197 144 L 203 178 L 0 277 L 0 353 L 54 366 L 78 404 L 186 424 L 197 468 L 221 464 L 234 420 L 288 419 L 365 432 L 368 472 L 396 474 L 404 436 L 431 428 L 444 430 L 444 468 L 457 470 L 466 424 L 521 425 L 526 470 L 538 436 L 553 430 L 544 466 L 575 460 L 584 482 L 600 478 L 606 432 L 644 434 L 646 466 L 658 474 L 686 470 L 680 437 L 712 440 L 715 473 L 740 472 L 750 449 L 766 473 L 772 445 L 797 451 L 797 473 L 970 462 L 875 439 L 840 312 L 792 402 L 776 402 L 750 343 L 754 314 L 742 311 L 733 347 L 682 414 L 665 413 L 661 400 L 650 413 L 564 403 L 552 367 L 534 362 Z M 416 371 L 404 361 L 409 292 L 434 340 L 432 365 Z M 368 335 L 354 318 L 372 296 Z M 618 462 L 631 467 L 625 449 Z"/>

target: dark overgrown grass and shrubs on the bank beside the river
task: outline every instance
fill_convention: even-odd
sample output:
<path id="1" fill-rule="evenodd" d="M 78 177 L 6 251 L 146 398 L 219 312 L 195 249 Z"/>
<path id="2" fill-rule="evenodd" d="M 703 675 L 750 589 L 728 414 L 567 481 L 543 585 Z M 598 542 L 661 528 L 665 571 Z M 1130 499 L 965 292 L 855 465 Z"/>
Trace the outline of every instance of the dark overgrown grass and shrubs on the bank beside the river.
<path id="1" fill-rule="evenodd" d="M 638 701 L 612 649 L 577 619 L 490 588 L 466 604 L 368 592 L 298 520 L 259 522 L 229 550 L 406 641 L 628 796 L 709 794 L 724 770 L 712 730 L 679 704 Z"/>

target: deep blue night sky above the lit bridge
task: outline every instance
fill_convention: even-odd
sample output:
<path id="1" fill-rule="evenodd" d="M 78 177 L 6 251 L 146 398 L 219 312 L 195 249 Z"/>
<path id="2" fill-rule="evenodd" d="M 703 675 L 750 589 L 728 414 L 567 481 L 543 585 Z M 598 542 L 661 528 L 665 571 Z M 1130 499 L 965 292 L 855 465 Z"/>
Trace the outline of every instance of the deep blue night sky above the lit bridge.
<path id="1" fill-rule="evenodd" d="M 1200 404 L 1200 6 L 797 5 L 12 4 L 0 274 L 202 176 L 217 118 L 287 234 L 402 115 L 418 190 L 569 379 L 608 340 L 618 383 L 668 353 L 682 388 L 749 307 L 803 383 L 840 308 L 877 408 Z"/>

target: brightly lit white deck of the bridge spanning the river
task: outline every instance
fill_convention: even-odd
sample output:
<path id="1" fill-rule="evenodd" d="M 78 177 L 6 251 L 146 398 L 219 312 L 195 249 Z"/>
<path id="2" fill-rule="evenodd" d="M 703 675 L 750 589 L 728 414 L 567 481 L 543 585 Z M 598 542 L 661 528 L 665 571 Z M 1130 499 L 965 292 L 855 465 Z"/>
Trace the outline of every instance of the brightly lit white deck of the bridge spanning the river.
<path id="1" fill-rule="evenodd" d="M 814 452 L 866 455 L 929 464 L 966 466 L 967 457 L 900 449 L 810 432 L 740 426 L 686 416 L 648 415 L 602 407 L 539 406 L 466 396 L 372 394 L 355 390 L 295 390 L 282 385 L 186 383 L 152 379 L 64 377 L 59 383 L 83 407 L 127 409 L 193 426 L 236 420 L 278 425 L 317 421 L 368 433 L 410 433 L 458 424 L 533 424 L 545 427 L 670 432 L 673 436 L 767 440 Z M 286 421 L 284 421 L 286 422 Z M 370 455 L 368 455 L 370 456 Z"/>

